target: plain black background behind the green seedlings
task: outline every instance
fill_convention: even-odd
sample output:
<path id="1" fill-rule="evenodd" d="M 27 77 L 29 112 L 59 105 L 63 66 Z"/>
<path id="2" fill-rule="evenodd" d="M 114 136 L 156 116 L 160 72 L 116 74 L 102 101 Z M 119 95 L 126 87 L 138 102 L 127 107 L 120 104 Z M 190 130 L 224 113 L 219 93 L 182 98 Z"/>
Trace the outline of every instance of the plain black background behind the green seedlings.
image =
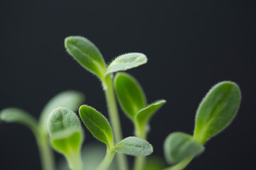
<path id="1" fill-rule="evenodd" d="M 147 64 L 128 72 L 140 81 L 149 103 L 167 101 L 151 120 L 149 134 L 161 157 L 170 132 L 193 133 L 196 108 L 211 86 L 237 82 L 242 91 L 238 116 L 187 169 L 254 169 L 255 7 L 254 0 L 1 0 L 0 109 L 15 106 L 38 118 L 49 98 L 75 89 L 106 115 L 100 81 L 63 46 L 66 36 L 82 35 L 99 47 L 106 62 L 124 52 L 147 55 Z M 132 123 L 120 115 L 124 136 L 133 135 Z M 85 133 L 85 145 L 95 141 Z M 26 127 L 1 123 L 0 169 L 40 169 Z"/>

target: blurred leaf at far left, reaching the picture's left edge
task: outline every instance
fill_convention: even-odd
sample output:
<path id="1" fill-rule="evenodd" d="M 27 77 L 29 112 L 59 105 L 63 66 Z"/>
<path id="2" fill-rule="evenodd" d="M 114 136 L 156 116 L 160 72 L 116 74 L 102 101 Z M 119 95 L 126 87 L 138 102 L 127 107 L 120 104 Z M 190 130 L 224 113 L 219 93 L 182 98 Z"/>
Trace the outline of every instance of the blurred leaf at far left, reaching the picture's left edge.
<path id="1" fill-rule="evenodd" d="M 37 120 L 19 108 L 5 108 L 0 111 L 0 120 L 6 123 L 20 123 L 26 125 L 36 135 L 38 133 Z"/>

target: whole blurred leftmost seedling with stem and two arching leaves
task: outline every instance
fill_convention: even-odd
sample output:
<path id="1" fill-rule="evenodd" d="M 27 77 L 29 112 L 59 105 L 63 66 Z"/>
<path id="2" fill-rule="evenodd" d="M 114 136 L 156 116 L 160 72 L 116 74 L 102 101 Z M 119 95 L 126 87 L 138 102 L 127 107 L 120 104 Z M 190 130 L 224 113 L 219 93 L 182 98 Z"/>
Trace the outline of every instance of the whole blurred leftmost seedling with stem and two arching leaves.
<path id="1" fill-rule="evenodd" d="M 48 132 L 46 128 L 48 115 L 53 109 L 59 106 L 65 106 L 73 111 L 77 111 L 83 101 L 85 101 L 85 96 L 80 92 L 64 91 L 54 96 L 46 103 L 46 106 L 41 112 L 39 121 L 19 108 L 3 109 L 0 111 L 0 120 L 6 123 L 20 123 L 26 125 L 36 138 L 43 170 L 54 170 L 54 157 L 50 145 L 48 144 Z"/>

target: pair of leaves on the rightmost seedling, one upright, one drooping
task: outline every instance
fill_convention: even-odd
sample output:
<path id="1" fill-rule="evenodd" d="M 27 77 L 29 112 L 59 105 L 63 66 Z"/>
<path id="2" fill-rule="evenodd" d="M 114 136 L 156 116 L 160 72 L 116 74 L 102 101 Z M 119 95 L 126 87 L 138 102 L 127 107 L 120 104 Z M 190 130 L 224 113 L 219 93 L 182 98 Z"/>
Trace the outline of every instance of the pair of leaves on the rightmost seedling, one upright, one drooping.
<path id="1" fill-rule="evenodd" d="M 223 81 L 213 86 L 198 107 L 193 137 L 174 132 L 166 138 L 164 153 L 167 162 L 175 164 L 201 154 L 203 144 L 230 125 L 238 112 L 240 101 L 241 92 L 237 84 Z"/>

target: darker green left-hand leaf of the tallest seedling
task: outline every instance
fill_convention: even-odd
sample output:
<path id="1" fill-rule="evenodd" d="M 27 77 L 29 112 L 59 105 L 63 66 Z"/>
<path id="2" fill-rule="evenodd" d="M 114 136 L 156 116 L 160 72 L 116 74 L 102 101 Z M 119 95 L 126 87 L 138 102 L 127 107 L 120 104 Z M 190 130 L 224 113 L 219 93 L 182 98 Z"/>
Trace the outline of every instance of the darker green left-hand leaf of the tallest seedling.
<path id="1" fill-rule="evenodd" d="M 65 48 L 85 69 L 104 79 L 105 61 L 100 50 L 90 40 L 80 36 L 70 36 L 65 38 Z"/>

